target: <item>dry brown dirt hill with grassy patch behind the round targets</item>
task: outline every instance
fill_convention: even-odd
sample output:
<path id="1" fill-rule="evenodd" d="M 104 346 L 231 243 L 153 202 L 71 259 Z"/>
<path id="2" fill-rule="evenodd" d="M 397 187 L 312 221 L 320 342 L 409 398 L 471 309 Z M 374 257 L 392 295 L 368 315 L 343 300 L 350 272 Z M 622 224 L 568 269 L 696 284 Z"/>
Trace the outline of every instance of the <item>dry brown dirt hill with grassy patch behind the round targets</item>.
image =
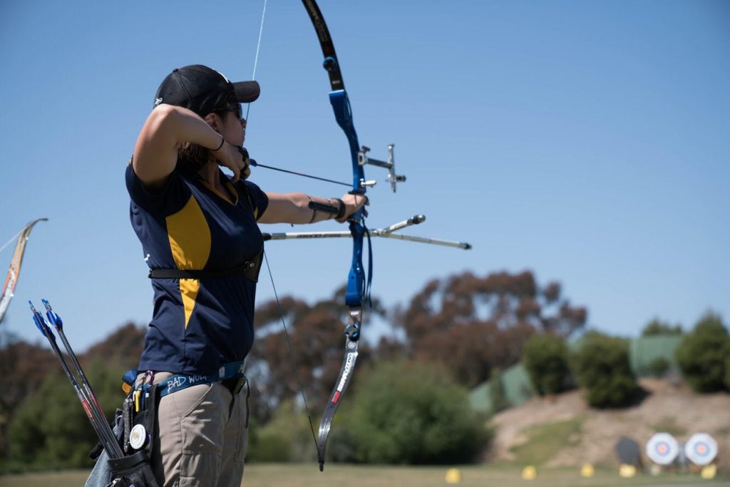
<path id="1" fill-rule="evenodd" d="M 529 402 L 494 416 L 492 461 L 576 467 L 616 465 L 613 446 L 622 435 L 644 448 L 655 432 L 680 443 L 696 432 L 718 441 L 718 467 L 730 469 L 730 394 L 694 394 L 684 383 L 639 380 L 648 396 L 634 407 L 596 410 L 580 391 Z M 648 462 L 645 459 L 645 462 Z"/>

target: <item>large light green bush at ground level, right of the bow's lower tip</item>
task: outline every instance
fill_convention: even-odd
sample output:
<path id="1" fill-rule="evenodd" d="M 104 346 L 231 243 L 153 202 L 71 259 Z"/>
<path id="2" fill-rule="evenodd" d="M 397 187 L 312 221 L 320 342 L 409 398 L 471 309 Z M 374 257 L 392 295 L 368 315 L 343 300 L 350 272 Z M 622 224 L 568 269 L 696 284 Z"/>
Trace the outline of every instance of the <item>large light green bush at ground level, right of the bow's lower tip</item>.
<path id="1" fill-rule="evenodd" d="M 463 464 L 491 438 L 466 389 L 423 363 L 378 364 L 361 377 L 345 422 L 350 460 L 366 463 Z"/>

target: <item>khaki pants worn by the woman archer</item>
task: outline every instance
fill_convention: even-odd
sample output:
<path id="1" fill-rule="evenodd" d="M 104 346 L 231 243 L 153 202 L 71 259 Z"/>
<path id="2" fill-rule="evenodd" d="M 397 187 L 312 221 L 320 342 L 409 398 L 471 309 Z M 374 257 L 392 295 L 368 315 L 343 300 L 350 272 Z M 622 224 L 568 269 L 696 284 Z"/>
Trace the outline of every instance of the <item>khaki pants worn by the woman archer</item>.
<path id="1" fill-rule="evenodd" d="M 155 383 L 170 377 L 155 373 Z M 138 381 L 143 375 L 138 376 Z M 164 487 L 240 487 L 248 440 L 246 384 L 201 384 L 159 399 L 150 461 Z"/>

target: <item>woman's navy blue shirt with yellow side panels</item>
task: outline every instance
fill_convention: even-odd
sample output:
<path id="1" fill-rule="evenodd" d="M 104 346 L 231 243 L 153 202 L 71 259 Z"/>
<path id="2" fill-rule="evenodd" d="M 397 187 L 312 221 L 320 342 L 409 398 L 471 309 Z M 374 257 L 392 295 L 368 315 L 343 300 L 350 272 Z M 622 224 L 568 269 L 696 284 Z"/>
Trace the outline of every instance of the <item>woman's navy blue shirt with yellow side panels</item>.
<path id="1" fill-rule="evenodd" d="M 178 169 L 150 193 L 127 166 L 129 216 L 150 269 L 223 271 L 263 250 L 256 221 L 269 199 L 257 185 L 232 184 L 219 174 L 226 194 Z M 155 278 L 152 287 L 153 318 L 139 370 L 211 374 L 250 351 L 255 283 L 244 274 Z"/>

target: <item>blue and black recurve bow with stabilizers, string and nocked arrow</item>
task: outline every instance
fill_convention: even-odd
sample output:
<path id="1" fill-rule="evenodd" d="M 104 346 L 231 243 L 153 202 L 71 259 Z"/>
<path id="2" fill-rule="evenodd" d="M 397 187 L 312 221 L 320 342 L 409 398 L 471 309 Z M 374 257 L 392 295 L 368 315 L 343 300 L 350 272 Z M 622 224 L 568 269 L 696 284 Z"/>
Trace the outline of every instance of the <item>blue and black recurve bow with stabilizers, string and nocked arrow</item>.
<path id="1" fill-rule="evenodd" d="M 334 50 L 332 38 L 329 34 L 329 29 L 325 23 L 322 12 L 320 11 L 317 2 L 315 0 L 302 0 L 304 8 L 307 10 L 307 14 L 312 20 L 312 26 L 315 28 L 315 33 L 320 42 L 322 53 L 324 56 L 323 67 L 326 69 L 329 77 L 329 83 L 331 91 L 329 93 L 329 101 L 334 110 L 334 118 L 337 120 L 337 124 L 340 126 L 342 131 L 345 132 L 347 142 L 350 145 L 350 160 L 353 169 L 353 180 L 350 193 L 359 196 L 365 196 L 366 188 L 375 185 L 372 180 L 365 179 L 364 166 L 372 165 L 379 166 L 384 169 L 388 169 L 388 183 L 391 184 L 391 190 L 396 192 L 396 183 L 402 183 L 406 180 L 405 176 L 397 175 L 395 170 L 395 158 L 393 156 L 393 145 L 388 146 L 388 161 L 379 161 L 372 159 L 367 156 L 369 147 L 360 147 L 358 142 L 358 136 L 353 125 L 353 112 L 350 108 L 350 99 L 345 91 L 345 82 L 342 80 L 342 72 L 340 72 L 339 61 L 337 60 L 337 54 Z M 264 2 L 264 15 L 266 12 L 266 2 Z M 263 27 L 263 16 L 261 24 Z M 256 61 L 254 63 L 254 76 L 255 66 L 258 62 L 258 49 L 261 45 L 261 30 L 259 31 L 258 46 L 256 48 Z M 252 166 L 266 167 L 267 169 L 277 169 L 283 172 L 289 172 L 291 174 L 313 177 L 318 180 L 325 180 L 330 183 L 345 184 L 338 181 L 328 180 L 323 177 L 315 177 L 310 175 L 304 175 L 298 172 L 289 171 L 286 169 L 278 169 L 272 166 L 264 166 L 264 164 L 258 164 L 255 161 L 251 161 Z M 263 234 L 264 240 L 280 240 L 280 239 L 300 239 L 300 238 L 326 238 L 326 237 L 352 237 L 353 239 L 353 257 L 350 264 L 350 272 L 347 276 L 347 290 L 345 291 L 345 304 L 348 307 L 348 321 L 345 324 L 345 356 L 342 359 L 342 366 L 339 370 L 337 382 L 329 396 L 328 402 L 323 410 L 322 418 L 320 420 L 320 426 L 318 434 L 314 433 L 314 426 L 312 426 L 312 420 L 310 416 L 310 426 L 312 428 L 312 436 L 315 436 L 315 442 L 317 446 L 317 458 L 319 462 L 320 471 L 324 469 L 325 451 L 327 447 L 327 439 L 331 429 L 332 420 L 334 414 L 337 411 L 337 407 L 342 402 L 342 396 L 347 390 L 347 386 L 350 384 L 350 380 L 353 377 L 353 371 L 358 357 L 358 344 L 361 338 L 361 327 L 363 321 L 363 308 L 370 302 L 370 282 L 372 280 L 372 250 L 369 247 L 369 269 L 366 273 L 363 266 L 363 244 L 364 237 L 367 236 L 368 242 L 370 237 L 391 237 L 402 240 L 409 240 L 412 242 L 422 242 L 435 245 L 445 245 L 448 247 L 469 249 L 471 245 L 465 242 L 453 242 L 442 239 L 430 239 L 425 237 L 411 237 L 403 234 L 396 234 L 395 231 L 403 229 L 407 226 L 416 225 L 426 220 L 424 215 L 415 215 L 412 218 L 408 218 L 406 221 L 401 221 L 388 226 L 384 229 L 369 230 L 365 226 L 365 217 L 367 213 L 364 207 L 350 215 L 348 218 L 350 229 L 349 231 L 334 231 L 334 232 L 299 232 L 299 233 L 280 233 L 280 234 Z M 266 254 L 264 253 L 264 257 Z M 266 266 L 269 266 L 268 259 L 266 259 Z M 271 269 L 269 268 L 269 275 L 271 275 Z M 272 278 L 273 285 L 273 278 Z M 274 286 L 274 296 L 276 296 L 278 303 L 278 296 L 276 294 L 276 288 Z M 289 334 L 286 329 L 286 323 L 283 318 L 283 313 L 280 314 L 282 323 L 284 325 L 285 335 L 288 340 L 289 349 L 293 358 L 293 346 L 289 339 Z M 299 380 L 299 386 L 301 388 L 301 394 L 304 399 L 304 406 L 307 408 L 307 415 L 309 415 L 309 407 L 307 406 L 307 397 L 304 394 L 304 388 L 301 386 L 301 378 L 299 378 L 299 370 L 296 367 L 296 360 L 294 360 L 294 369 L 296 371 L 297 378 Z"/>

